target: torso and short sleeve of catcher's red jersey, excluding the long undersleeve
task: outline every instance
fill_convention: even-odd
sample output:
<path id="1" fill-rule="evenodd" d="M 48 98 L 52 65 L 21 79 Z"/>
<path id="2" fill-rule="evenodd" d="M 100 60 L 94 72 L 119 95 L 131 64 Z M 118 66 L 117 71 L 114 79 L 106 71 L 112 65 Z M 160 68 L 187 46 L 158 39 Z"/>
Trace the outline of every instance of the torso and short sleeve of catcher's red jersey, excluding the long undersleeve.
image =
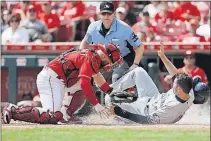
<path id="1" fill-rule="evenodd" d="M 99 72 L 101 60 L 99 55 L 94 51 L 74 51 L 65 55 L 64 58 L 66 61 L 65 67 L 72 70 L 68 76 L 71 81 L 68 81 L 65 77 L 64 71 L 66 71 L 66 68 L 62 65 L 60 57 L 52 60 L 47 66 L 54 70 L 68 87 L 74 85 L 80 77 L 91 79 L 93 74 Z"/>

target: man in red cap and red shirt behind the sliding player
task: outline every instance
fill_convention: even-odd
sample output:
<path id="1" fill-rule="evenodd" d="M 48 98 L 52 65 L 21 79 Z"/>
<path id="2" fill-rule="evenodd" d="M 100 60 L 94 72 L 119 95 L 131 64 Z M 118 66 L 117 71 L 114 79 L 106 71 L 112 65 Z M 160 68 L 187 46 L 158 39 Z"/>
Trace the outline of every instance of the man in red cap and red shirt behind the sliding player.
<path id="1" fill-rule="evenodd" d="M 187 50 L 185 52 L 183 62 L 184 66 L 178 69 L 179 72 L 186 73 L 192 76 L 193 79 L 199 77 L 202 82 L 208 83 L 207 76 L 204 70 L 195 65 L 195 54 L 191 50 Z M 168 75 L 166 76 L 164 81 L 168 84 L 172 84 L 172 80 Z"/>

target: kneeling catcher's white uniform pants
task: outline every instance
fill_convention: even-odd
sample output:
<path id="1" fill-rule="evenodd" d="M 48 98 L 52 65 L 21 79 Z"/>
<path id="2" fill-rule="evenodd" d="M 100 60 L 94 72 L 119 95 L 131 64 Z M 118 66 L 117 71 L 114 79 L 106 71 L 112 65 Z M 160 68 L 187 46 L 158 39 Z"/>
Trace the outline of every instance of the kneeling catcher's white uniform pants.
<path id="1" fill-rule="evenodd" d="M 56 78 L 57 76 L 58 75 L 48 67 L 44 67 L 37 76 L 37 88 L 42 107 L 52 112 L 60 111 L 65 93 L 70 92 L 74 94 L 81 90 L 79 82 L 70 88 L 66 88 L 63 80 Z M 70 104 L 70 101 L 71 99 L 66 102 Z"/>

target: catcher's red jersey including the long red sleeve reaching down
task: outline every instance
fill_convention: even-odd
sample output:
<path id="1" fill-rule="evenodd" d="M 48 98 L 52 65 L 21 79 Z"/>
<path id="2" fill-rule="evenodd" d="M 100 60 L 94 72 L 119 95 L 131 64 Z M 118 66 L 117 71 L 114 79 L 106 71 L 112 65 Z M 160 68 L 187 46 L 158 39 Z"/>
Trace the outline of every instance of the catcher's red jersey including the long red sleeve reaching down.
<path id="1" fill-rule="evenodd" d="M 93 106 L 98 104 L 99 102 L 92 89 L 91 77 L 100 70 L 100 56 L 95 51 L 85 49 L 73 51 L 62 56 L 55 58 L 47 66 L 64 80 L 67 87 L 72 87 L 79 82 L 89 102 Z"/>

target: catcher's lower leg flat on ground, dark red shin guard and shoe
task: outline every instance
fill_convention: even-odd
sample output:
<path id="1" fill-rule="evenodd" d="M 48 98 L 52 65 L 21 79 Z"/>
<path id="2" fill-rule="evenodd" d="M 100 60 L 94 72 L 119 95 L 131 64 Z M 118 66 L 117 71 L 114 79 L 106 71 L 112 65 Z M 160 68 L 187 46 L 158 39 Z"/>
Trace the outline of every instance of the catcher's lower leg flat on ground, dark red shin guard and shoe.
<path id="1" fill-rule="evenodd" d="M 50 110 L 38 107 L 27 106 L 19 108 L 8 103 L 2 111 L 2 123 L 9 124 L 11 119 L 40 124 L 57 124 L 62 120 L 60 111 L 50 112 Z"/>

